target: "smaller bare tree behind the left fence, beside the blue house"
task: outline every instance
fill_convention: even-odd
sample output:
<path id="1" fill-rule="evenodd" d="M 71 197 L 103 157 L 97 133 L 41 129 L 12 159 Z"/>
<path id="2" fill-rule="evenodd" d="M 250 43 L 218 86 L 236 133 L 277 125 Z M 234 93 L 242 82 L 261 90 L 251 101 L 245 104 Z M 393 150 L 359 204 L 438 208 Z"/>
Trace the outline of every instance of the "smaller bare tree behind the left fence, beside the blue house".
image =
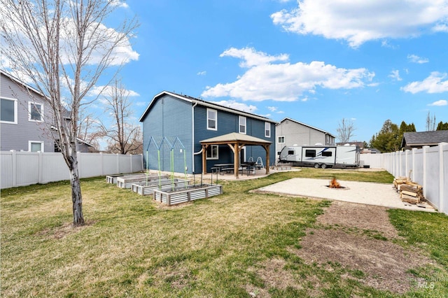
<path id="1" fill-rule="evenodd" d="M 126 90 L 120 80 L 115 80 L 109 91 L 105 93 L 106 111 L 109 112 L 113 120 L 109 127 L 102 123 L 101 129 L 104 136 L 110 139 L 109 150 L 121 154 L 138 152 L 141 150 L 143 142 L 140 141 L 140 127 L 129 122 L 132 118 L 130 92 Z"/>

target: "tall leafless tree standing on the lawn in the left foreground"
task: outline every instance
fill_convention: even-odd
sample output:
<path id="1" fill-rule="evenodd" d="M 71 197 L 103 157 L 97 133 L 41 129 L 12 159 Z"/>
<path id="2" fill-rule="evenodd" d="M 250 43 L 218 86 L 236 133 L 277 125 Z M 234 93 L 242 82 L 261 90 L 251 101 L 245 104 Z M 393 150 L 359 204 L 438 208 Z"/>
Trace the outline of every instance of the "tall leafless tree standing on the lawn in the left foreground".
<path id="1" fill-rule="evenodd" d="M 129 61 L 118 58 L 123 57 L 118 53 L 130 48 L 129 38 L 137 26 L 135 20 L 125 20 L 116 29 L 103 24 L 117 2 L 0 0 L 2 61 L 8 59 L 10 69 L 24 74 L 47 96 L 55 141 L 70 171 L 75 226 L 84 224 L 76 156 L 78 113 L 90 103 L 85 100 L 88 92 L 104 71 Z"/>

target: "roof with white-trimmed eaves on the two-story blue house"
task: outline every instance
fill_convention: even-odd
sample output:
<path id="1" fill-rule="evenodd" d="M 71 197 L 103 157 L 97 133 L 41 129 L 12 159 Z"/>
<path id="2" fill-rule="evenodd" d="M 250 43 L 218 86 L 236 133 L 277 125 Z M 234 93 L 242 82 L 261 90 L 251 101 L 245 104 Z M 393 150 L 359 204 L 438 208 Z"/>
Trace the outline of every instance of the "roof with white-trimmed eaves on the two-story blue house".
<path id="1" fill-rule="evenodd" d="M 168 91 L 162 91 L 159 94 L 156 94 L 155 97 L 153 97 L 153 99 L 151 100 L 151 103 L 148 104 L 148 107 L 146 108 L 144 113 L 141 115 L 141 117 L 139 119 L 139 122 L 143 122 L 144 118 L 146 117 L 146 114 L 148 114 L 148 112 L 151 110 L 151 107 L 153 106 L 155 101 L 159 97 L 162 97 L 164 95 L 170 95 L 172 97 L 175 97 L 176 99 L 181 99 L 183 101 L 188 101 L 192 105 L 193 104 L 197 104 L 197 105 L 200 105 L 200 106 L 207 106 L 208 108 L 216 108 L 216 110 L 220 110 L 220 111 L 226 111 L 226 112 L 230 112 L 230 113 L 234 113 L 234 114 L 238 114 L 238 115 L 242 115 L 242 116 L 246 116 L 246 117 L 250 117 L 250 118 L 255 118 L 255 119 L 266 121 L 266 122 L 276 123 L 276 121 L 271 120 L 269 118 L 265 118 L 265 117 L 260 116 L 260 115 L 255 115 L 253 113 L 247 113 L 247 112 L 239 111 L 239 110 L 237 110 L 235 108 L 229 108 L 227 106 L 221 106 L 220 104 L 215 104 L 214 102 L 211 102 L 211 101 L 204 101 L 203 99 L 197 99 L 195 97 L 190 97 L 188 95 L 177 94 L 177 93 L 168 92 Z"/>

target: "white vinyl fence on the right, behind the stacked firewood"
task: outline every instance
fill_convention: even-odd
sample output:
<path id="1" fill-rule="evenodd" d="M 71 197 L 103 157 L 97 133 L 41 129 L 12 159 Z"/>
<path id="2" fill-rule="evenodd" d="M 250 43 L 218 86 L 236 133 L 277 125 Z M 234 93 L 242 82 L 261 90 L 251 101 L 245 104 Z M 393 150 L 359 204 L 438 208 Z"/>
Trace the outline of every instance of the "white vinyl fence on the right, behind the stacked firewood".
<path id="1" fill-rule="evenodd" d="M 409 177 L 423 186 L 423 195 L 438 211 L 448 214 L 448 143 L 381 154 L 360 155 L 371 168 L 394 177 Z"/>

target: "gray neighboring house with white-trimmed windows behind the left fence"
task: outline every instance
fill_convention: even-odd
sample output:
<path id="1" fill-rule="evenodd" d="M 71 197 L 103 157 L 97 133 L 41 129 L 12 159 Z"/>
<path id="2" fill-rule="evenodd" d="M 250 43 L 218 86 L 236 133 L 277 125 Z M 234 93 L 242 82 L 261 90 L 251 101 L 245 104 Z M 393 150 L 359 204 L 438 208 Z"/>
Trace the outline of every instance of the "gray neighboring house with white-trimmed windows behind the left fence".
<path id="1" fill-rule="evenodd" d="M 45 95 L 0 70 L 0 150 L 55 152 L 52 110 Z M 78 150 L 93 146 L 78 139 Z"/>

